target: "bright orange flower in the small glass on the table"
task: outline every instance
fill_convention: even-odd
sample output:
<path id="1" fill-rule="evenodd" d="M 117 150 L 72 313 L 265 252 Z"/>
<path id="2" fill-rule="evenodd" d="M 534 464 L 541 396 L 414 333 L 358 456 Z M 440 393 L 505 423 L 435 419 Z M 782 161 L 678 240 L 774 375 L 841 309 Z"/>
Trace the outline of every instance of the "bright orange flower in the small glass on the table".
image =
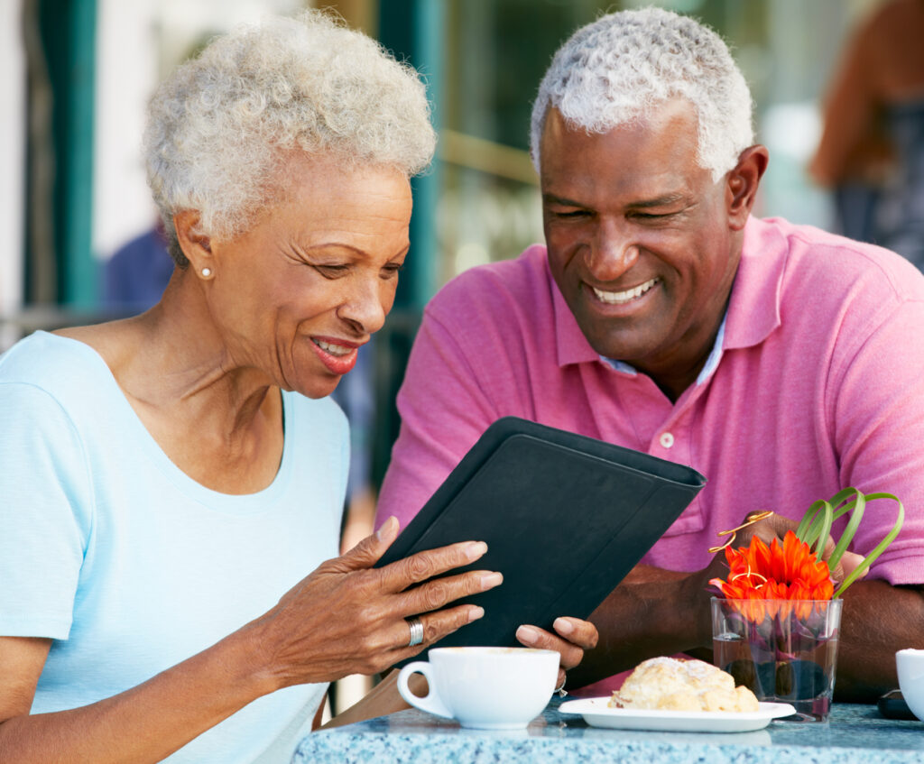
<path id="1" fill-rule="evenodd" d="M 748 547 L 726 547 L 725 560 L 730 568 L 727 580 L 713 578 L 710 584 L 729 600 L 747 600 L 742 614 L 749 621 L 777 615 L 778 600 L 830 600 L 834 594 L 828 565 L 791 530 L 782 545 L 774 539 L 768 547 L 755 536 Z M 799 618 L 808 617 L 810 605 L 796 607 Z"/>

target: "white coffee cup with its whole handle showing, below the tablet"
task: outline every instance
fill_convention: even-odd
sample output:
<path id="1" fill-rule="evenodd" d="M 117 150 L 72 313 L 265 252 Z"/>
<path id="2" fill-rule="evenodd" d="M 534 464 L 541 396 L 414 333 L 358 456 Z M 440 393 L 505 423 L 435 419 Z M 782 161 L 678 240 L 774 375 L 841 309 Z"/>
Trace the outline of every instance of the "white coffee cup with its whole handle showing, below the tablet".
<path id="1" fill-rule="evenodd" d="M 429 661 L 408 663 L 398 674 L 398 692 L 412 706 L 463 727 L 515 730 L 545 708 L 558 678 L 559 655 L 530 648 L 435 648 Z M 427 678 L 429 692 L 418 697 L 407 680 Z"/>

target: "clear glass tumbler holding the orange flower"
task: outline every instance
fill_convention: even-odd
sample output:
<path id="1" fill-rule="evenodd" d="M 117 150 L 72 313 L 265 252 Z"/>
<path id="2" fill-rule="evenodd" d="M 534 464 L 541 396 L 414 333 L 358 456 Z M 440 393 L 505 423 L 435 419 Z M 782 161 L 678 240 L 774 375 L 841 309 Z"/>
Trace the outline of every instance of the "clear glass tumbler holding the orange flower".
<path id="1" fill-rule="evenodd" d="M 843 601 L 713 597 L 713 662 L 758 700 L 792 704 L 784 721 L 827 722 Z"/>

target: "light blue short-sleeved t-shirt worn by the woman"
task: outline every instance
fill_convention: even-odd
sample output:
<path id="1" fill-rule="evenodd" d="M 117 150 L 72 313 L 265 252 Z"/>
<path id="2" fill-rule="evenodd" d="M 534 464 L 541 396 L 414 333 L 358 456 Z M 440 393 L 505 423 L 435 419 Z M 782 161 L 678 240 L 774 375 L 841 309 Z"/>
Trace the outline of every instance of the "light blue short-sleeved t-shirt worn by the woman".
<path id="1" fill-rule="evenodd" d="M 54 639 L 33 713 L 139 685 L 336 556 L 346 418 L 283 408 L 273 483 L 228 495 L 170 461 L 90 346 L 40 332 L 0 356 L 0 635 Z M 325 689 L 261 697 L 167 760 L 287 762 Z"/>

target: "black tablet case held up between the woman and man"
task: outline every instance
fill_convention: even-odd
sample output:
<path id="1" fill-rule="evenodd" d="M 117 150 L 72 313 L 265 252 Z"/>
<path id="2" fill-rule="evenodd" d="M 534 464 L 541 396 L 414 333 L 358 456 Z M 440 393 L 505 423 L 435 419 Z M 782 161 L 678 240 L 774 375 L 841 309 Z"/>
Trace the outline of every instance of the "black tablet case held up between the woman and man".
<path id="1" fill-rule="evenodd" d="M 504 583 L 459 600 L 479 604 L 484 617 L 433 647 L 514 647 L 521 624 L 552 630 L 560 615 L 587 618 L 705 482 L 656 456 L 501 418 L 376 566 L 456 541 L 486 541 L 480 560 L 453 573 L 498 570 Z"/>

